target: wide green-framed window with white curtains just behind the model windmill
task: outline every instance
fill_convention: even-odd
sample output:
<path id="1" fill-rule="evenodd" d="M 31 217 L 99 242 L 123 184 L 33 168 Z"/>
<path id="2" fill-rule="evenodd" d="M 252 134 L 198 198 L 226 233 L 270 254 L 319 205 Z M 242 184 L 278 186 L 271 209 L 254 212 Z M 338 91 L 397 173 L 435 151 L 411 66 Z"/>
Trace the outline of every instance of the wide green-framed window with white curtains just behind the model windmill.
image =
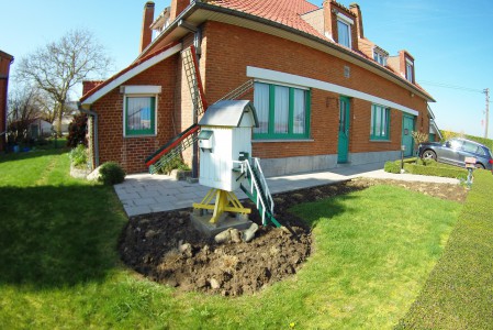
<path id="1" fill-rule="evenodd" d="M 310 136 L 310 90 L 255 82 L 254 106 L 259 122 L 254 139 Z"/>

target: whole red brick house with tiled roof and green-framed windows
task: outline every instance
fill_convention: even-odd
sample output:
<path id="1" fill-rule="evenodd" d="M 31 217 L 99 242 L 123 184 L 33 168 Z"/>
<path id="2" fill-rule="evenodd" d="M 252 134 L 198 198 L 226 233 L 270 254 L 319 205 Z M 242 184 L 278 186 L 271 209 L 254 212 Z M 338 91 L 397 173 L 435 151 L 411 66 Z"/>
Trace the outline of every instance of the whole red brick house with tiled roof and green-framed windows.
<path id="1" fill-rule="evenodd" d="M 368 40 L 356 3 L 172 0 L 153 20 L 147 2 L 136 61 L 83 86 L 94 165 L 146 172 L 145 158 L 197 120 L 180 56 L 192 44 L 210 105 L 253 81 L 243 98 L 257 110 L 253 154 L 268 176 L 394 160 L 402 144 L 411 155 L 411 132 L 429 132 L 435 100 L 415 81 L 414 57 Z M 147 109 L 136 127 L 134 108 Z"/>

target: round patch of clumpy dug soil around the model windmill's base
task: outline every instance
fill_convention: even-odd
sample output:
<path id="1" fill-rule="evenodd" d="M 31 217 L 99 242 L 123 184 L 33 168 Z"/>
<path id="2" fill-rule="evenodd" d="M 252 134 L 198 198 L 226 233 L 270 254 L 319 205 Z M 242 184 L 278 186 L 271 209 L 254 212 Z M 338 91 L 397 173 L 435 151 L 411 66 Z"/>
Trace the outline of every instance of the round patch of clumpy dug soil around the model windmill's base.
<path id="1" fill-rule="evenodd" d="M 310 232 L 260 227 L 249 242 L 216 244 L 190 223 L 189 211 L 134 217 L 121 243 L 123 261 L 182 290 L 237 296 L 292 275 L 310 254 Z"/>

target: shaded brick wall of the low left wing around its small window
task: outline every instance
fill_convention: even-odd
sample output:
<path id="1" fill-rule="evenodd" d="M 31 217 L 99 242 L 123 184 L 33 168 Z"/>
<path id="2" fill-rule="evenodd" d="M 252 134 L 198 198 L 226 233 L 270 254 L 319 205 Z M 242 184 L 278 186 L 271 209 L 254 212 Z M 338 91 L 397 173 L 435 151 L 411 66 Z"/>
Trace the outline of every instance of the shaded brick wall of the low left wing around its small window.
<path id="1" fill-rule="evenodd" d="M 124 84 L 161 86 L 161 94 L 156 101 L 157 136 L 123 136 L 123 95 L 120 88 L 94 102 L 92 110 L 99 114 L 100 164 L 114 161 L 127 173 L 146 172 L 145 158 L 180 130 L 173 129 L 172 120 L 178 58 L 179 55 L 173 55 Z"/>

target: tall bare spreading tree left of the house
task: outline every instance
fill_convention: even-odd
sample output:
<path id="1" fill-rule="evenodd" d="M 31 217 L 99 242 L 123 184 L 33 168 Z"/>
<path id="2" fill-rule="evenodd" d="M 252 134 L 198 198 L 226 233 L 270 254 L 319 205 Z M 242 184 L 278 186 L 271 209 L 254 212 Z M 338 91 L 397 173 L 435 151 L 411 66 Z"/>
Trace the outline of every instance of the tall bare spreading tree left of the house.
<path id="1" fill-rule="evenodd" d="M 56 131 L 61 135 L 61 118 L 74 86 L 85 79 L 101 78 L 111 62 L 91 32 L 72 30 L 59 41 L 48 43 L 22 58 L 16 77 L 34 82 L 49 95 L 57 119 Z"/>

